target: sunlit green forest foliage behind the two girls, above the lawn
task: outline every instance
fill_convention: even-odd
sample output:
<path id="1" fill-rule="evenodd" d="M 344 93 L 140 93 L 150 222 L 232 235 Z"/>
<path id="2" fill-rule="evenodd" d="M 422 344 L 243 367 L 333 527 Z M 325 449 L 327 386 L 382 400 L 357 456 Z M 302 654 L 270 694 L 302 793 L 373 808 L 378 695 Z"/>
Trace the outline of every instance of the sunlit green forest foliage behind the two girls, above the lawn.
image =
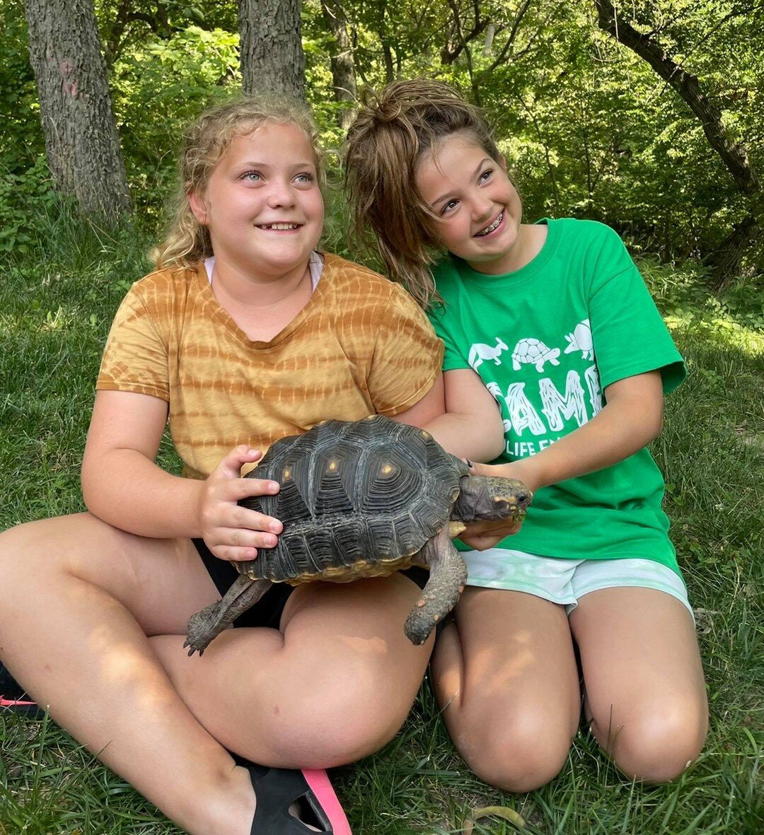
<path id="1" fill-rule="evenodd" d="M 339 149 L 341 115 L 352 107 L 333 90 L 338 47 L 326 8 L 339 8 L 359 87 L 427 74 L 486 109 L 529 220 L 603 220 L 663 261 L 707 258 L 751 211 L 750 195 L 675 90 L 598 28 L 595 6 L 304 0 L 306 94 L 324 144 Z M 182 125 L 211 99 L 240 89 L 237 4 L 96 0 L 95 9 L 131 197 L 140 222 L 153 224 Z M 619 14 L 698 79 L 731 142 L 760 172 L 764 3 L 658 0 Z M 2 0 L 0 28 L 0 252 L 23 252 L 30 212 L 53 196 L 22 0 Z M 760 211 L 761 198 L 754 203 Z M 761 287 L 761 247 L 749 248 L 741 271 Z"/>

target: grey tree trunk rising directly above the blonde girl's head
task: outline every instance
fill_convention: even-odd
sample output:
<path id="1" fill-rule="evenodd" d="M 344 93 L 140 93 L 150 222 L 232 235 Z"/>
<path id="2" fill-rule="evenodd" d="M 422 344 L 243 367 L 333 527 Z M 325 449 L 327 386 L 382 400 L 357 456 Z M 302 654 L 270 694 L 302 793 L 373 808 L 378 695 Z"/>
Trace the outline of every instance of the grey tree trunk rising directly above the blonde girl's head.
<path id="1" fill-rule="evenodd" d="M 300 0 L 238 0 L 245 93 L 305 98 Z"/>

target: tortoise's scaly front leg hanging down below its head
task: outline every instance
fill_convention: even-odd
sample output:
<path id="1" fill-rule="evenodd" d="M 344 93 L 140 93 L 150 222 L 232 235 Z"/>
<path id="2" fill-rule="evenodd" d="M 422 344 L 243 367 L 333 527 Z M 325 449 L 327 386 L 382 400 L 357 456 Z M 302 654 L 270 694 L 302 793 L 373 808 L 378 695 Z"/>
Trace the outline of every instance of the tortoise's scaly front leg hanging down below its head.
<path id="1" fill-rule="evenodd" d="M 447 524 L 425 544 L 420 557 L 430 568 L 430 578 L 403 627 L 415 646 L 424 644 L 435 624 L 456 606 L 467 581 L 467 567 L 451 542 Z"/>

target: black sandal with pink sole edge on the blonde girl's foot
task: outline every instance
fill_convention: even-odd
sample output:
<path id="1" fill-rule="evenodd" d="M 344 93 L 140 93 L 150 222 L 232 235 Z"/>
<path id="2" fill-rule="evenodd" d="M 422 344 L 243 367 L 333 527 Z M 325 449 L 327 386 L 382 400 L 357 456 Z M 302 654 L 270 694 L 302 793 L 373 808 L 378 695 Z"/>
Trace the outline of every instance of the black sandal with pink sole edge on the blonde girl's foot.
<path id="1" fill-rule="evenodd" d="M 257 798 L 251 835 L 352 835 L 329 776 L 322 769 L 267 768 L 236 759 L 249 772 Z M 298 817 L 290 811 L 293 809 Z"/>

